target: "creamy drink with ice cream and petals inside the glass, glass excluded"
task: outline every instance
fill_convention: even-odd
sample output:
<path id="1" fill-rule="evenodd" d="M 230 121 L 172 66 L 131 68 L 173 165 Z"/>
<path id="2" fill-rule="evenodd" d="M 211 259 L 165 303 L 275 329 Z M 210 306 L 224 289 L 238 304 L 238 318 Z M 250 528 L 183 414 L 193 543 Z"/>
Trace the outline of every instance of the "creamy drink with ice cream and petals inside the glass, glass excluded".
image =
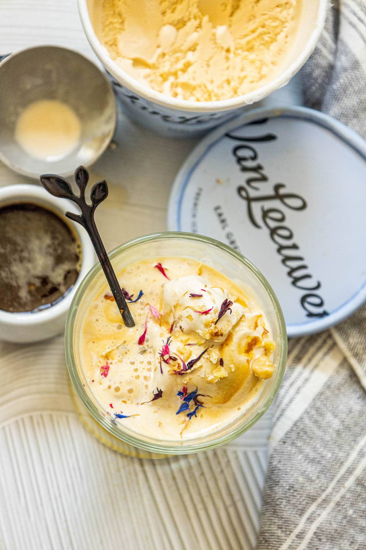
<path id="1" fill-rule="evenodd" d="M 275 344 L 264 312 L 237 284 L 173 257 L 141 261 L 118 278 L 131 300 L 143 291 L 129 304 L 136 326 L 123 326 L 105 287 L 80 337 L 87 383 L 112 422 L 178 441 L 217 431 L 255 403 Z"/>

